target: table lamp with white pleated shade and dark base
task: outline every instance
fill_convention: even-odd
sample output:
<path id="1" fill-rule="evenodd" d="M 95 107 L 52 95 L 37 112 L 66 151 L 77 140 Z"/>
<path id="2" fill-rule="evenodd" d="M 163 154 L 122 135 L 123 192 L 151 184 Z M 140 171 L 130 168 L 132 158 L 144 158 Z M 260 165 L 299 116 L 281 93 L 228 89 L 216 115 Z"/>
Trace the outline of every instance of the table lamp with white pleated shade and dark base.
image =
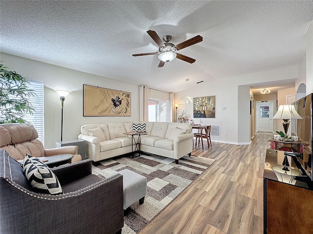
<path id="1" fill-rule="evenodd" d="M 302 118 L 294 109 L 293 105 L 280 105 L 276 114 L 272 117 L 274 119 L 283 119 L 283 128 L 285 130 L 285 137 L 282 140 L 288 140 L 287 132 L 290 124 L 290 119 L 300 119 Z"/>

